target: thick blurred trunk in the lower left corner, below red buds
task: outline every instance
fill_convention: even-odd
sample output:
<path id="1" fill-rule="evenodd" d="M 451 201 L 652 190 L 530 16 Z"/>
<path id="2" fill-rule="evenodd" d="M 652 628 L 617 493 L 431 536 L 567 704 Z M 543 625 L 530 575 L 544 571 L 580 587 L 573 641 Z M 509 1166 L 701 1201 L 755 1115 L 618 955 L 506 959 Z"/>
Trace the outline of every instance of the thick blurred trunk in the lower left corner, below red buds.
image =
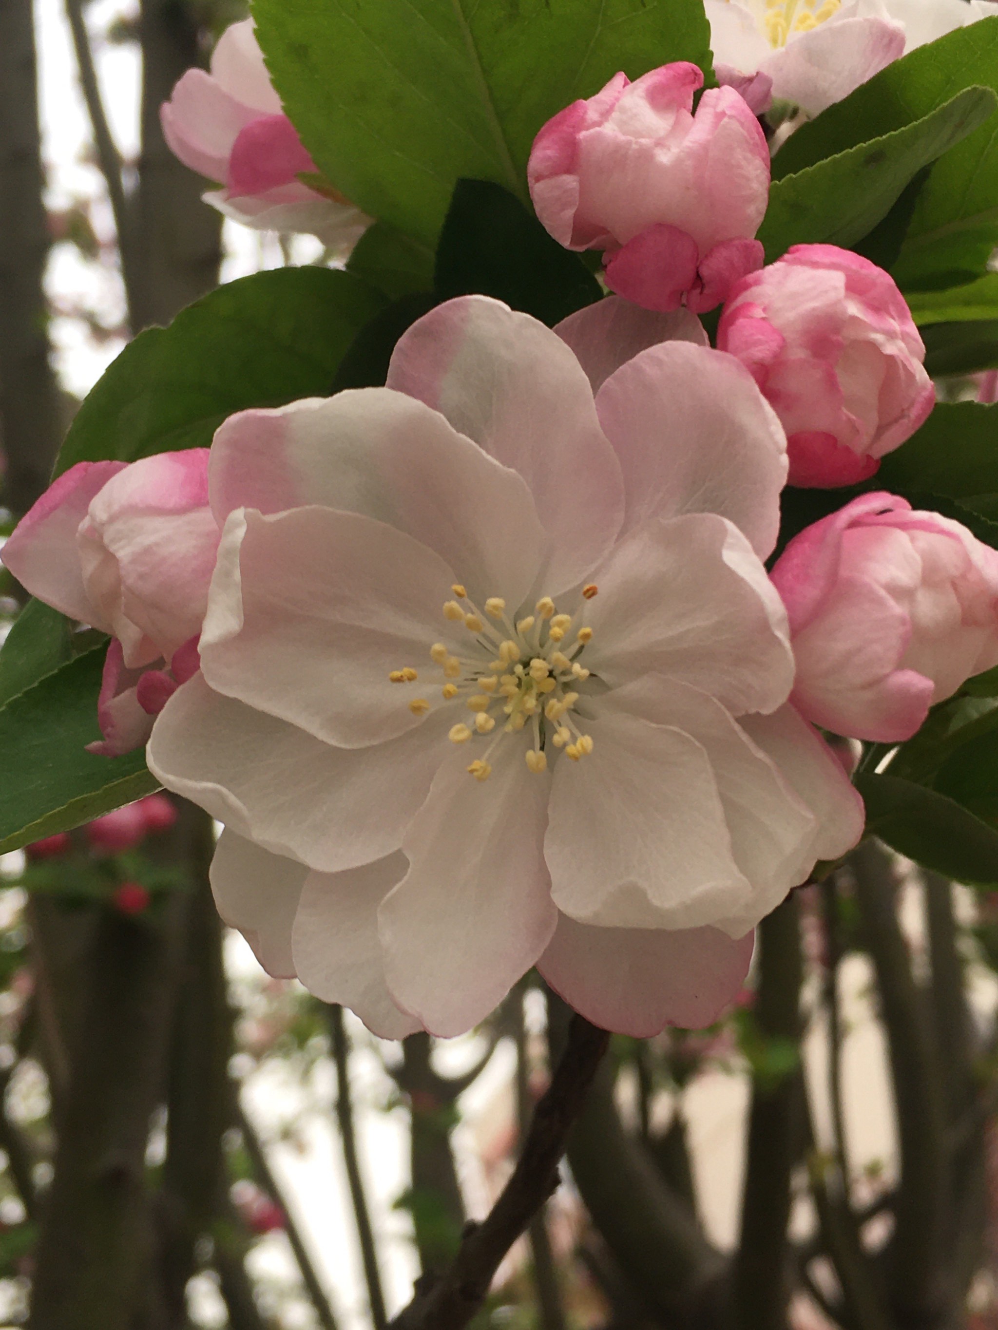
<path id="1" fill-rule="evenodd" d="M 101 912 L 33 1278 L 31 1330 L 128 1330 L 149 1262 L 149 1117 L 164 1084 L 184 899 Z M 88 991 L 89 990 L 89 991 Z"/>

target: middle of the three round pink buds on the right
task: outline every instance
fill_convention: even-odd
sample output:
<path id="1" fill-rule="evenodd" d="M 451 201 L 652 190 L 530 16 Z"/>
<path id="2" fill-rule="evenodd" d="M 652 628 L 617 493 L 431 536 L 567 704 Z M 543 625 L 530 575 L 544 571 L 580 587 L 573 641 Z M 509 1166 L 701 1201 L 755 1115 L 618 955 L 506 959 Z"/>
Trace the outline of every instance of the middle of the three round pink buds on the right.
<path id="1" fill-rule="evenodd" d="M 717 346 L 752 371 L 780 416 L 792 485 L 866 480 L 935 403 L 894 281 L 836 245 L 796 245 L 741 278 Z"/>

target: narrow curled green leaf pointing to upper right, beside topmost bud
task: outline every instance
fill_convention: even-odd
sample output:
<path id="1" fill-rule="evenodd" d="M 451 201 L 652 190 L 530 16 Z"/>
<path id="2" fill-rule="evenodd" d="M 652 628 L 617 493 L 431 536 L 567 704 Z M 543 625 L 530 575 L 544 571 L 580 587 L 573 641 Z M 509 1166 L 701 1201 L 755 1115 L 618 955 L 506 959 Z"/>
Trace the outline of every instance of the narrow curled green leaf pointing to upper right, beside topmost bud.
<path id="1" fill-rule="evenodd" d="M 995 106 L 998 97 L 990 88 L 965 88 L 902 129 L 774 181 L 758 231 L 768 262 L 790 245 L 849 247 L 861 241 L 888 215 L 908 184 L 989 120 Z"/>

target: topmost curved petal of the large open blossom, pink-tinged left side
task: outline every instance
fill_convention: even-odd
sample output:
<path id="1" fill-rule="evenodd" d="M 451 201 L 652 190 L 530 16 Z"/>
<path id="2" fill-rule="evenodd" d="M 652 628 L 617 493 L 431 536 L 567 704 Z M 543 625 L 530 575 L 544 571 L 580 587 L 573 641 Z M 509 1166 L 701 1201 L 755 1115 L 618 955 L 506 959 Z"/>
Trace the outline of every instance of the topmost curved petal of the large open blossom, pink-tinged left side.
<path id="1" fill-rule="evenodd" d="M 620 527 L 620 468 L 579 362 L 543 323 L 482 295 L 419 319 L 398 342 L 389 387 L 442 411 L 531 488 L 552 543 L 544 591 L 583 579 Z"/>

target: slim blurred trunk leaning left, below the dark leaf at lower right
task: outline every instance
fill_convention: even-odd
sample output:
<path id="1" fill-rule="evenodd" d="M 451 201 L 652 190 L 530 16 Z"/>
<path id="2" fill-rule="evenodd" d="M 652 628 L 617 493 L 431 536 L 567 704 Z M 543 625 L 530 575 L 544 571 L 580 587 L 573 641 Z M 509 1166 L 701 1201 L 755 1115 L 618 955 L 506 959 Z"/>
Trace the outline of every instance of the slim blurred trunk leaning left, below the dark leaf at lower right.
<path id="1" fill-rule="evenodd" d="M 850 858 L 890 1048 L 901 1182 L 888 1253 L 892 1310 L 904 1326 L 935 1325 L 949 1301 L 945 1103 L 931 1013 L 912 974 L 897 919 L 889 853 L 865 841 Z"/>

